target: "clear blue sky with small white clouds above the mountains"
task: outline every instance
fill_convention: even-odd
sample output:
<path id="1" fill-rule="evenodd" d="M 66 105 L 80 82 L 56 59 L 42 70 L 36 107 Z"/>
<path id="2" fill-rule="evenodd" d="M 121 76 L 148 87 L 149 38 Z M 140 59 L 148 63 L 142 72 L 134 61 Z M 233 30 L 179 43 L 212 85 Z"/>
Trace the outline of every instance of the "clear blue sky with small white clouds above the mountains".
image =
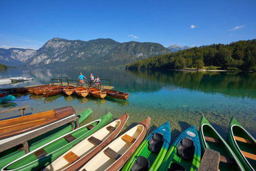
<path id="1" fill-rule="evenodd" d="M 256 38 L 256 1 L 0 0 L 0 48 L 53 37 L 202 46 Z"/>

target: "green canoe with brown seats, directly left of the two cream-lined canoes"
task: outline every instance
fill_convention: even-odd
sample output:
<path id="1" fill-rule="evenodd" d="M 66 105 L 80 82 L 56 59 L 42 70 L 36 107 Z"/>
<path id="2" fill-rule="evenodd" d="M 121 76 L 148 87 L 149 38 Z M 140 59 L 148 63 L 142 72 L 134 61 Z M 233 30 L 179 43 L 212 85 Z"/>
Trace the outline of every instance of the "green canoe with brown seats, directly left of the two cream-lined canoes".
<path id="1" fill-rule="evenodd" d="M 2 170 L 40 170 L 70 148 L 106 125 L 112 119 L 108 113 L 78 129 L 53 140 L 34 151 L 7 164 Z"/>

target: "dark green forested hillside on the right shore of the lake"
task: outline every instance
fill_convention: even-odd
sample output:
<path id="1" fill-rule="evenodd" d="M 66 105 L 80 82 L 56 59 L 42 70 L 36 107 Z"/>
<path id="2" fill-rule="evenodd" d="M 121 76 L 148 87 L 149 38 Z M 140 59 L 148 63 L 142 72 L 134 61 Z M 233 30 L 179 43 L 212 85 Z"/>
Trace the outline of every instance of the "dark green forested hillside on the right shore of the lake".
<path id="1" fill-rule="evenodd" d="M 202 69 L 219 66 L 228 70 L 256 70 L 256 39 L 195 47 L 172 54 L 139 60 L 130 69 Z M 213 68 L 213 67 L 210 67 Z"/>

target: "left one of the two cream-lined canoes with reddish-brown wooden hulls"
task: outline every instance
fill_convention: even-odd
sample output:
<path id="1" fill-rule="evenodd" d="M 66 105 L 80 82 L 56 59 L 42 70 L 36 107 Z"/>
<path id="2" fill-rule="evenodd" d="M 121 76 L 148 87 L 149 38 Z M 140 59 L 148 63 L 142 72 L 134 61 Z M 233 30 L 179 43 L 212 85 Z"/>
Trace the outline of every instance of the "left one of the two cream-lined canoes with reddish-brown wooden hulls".
<path id="1" fill-rule="evenodd" d="M 120 133 L 129 115 L 126 113 L 79 142 L 44 170 L 76 170 L 108 145 Z M 82 149 L 82 150 L 81 150 Z"/>

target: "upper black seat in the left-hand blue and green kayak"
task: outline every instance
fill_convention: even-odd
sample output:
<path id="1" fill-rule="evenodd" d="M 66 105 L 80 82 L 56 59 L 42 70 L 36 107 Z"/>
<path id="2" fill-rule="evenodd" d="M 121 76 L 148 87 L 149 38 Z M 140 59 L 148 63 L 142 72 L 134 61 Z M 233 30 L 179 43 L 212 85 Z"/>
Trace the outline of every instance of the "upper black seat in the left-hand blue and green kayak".
<path id="1" fill-rule="evenodd" d="M 163 135 L 155 133 L 148 143 L 150 144 L 148 148 L 150 148 L 151 152 L 159 153 L 163 146 Z"/>

